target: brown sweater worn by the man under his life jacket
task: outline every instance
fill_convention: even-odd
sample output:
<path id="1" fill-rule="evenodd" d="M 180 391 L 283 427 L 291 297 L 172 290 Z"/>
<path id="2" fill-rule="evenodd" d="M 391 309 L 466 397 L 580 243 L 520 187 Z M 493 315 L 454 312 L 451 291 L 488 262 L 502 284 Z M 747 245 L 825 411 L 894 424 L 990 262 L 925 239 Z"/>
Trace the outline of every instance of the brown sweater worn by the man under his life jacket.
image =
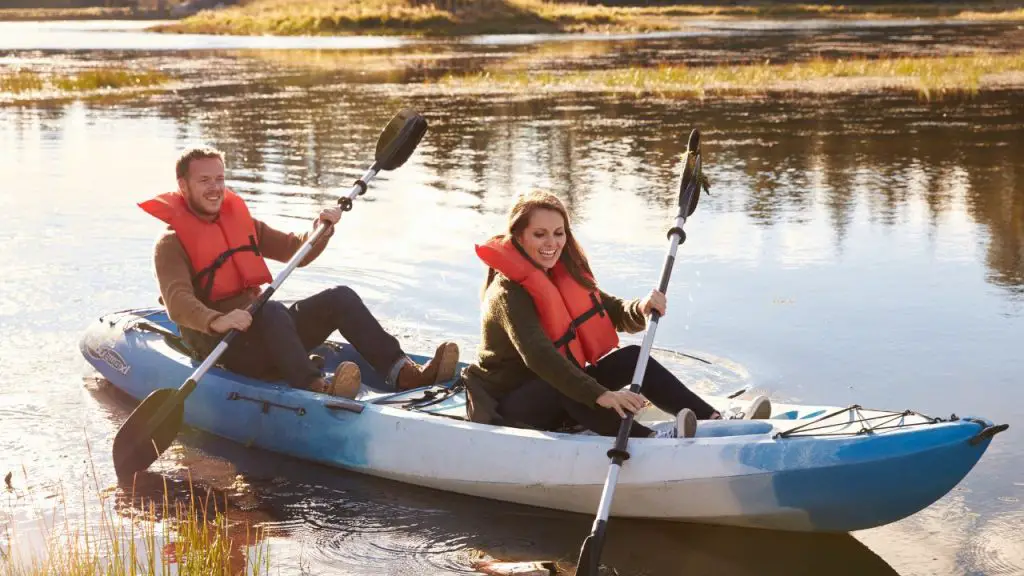
<path id="1" fill-rule="evenodd" d="M 310 231 L 297 236 L 274 230 L 255 218 L 254 222 L 256 244 L 263 257 L 281 262 L 287 262 L 294 256 L 312 234 Z M 327 247 L 328 239 L 333 234 L 333 228 L 326 232 L 299 265 L 304 266 L 313 261 Z M 248 306 L 260 294 L 259 288 L 250 288 L 238 296 L 216 302 L 201 300 L 191 282 L 196 272 L 188 260 L 188 254 L 178 241 L 178 235 L 170 229 L 157 241 L 153 259 L 157 281 L 160 283 L 161 302 L 167 308 L 170 319 L 178 325 L 185 343 L 203 358 L 210 354 L 222 336 L 210 330 L 210 323 L 224 313 Z"/>

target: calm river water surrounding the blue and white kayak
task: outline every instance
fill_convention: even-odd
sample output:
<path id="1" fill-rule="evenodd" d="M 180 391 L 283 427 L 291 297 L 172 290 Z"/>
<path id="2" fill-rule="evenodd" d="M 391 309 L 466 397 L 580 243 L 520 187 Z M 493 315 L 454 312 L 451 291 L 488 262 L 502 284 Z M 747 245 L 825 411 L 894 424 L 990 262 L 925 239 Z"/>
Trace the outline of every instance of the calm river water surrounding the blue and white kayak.
<path id="1" fill-rule="evenodd" d="M 714 360 L 696 387 L 1011 424 L 961 486 L 904 521 L 811 536 L 613 520 L 609 565 L 1024 573 L 1020 91 L 693 100 L 459 94 L 424 82 L 492 68 L 1019 50 L 1019 26 L 703 23 L 677 35 L 447 43 L 131 28 L 0 24 L 5 68 L 141 66 L 187 82 L 137 98 L 0 106 L 0 475 L 12 471 L 14 487 L 0 492 L 0 527 L 31 540 L 40 519 L 94 522 L 83 498 L 115 484 L 110 448 L 130 406 L 97 381 L 77 341 L 102 314 L 156 303 L 151 256 L 163 224 L 135 203 L 174 187 L 176 153 L 220 148 L 257 217 L 305 230 L 371 162 L 380 128 L 412 106 L 430 124 L 419 150 L 372 184 L 283 298 L 347 284 L 408 347 L 451 338 L 469 358 L 482 281 L 472 244 L 501 230 L 514 195 L 532 188 L 566 201 L 607 290 L 642 295 L 657 280 L 678 158 L 697 127 L 712 195 L 688 222 L 656 341 Z M 195 433 L 153 467 L 154 482 L 184 490 L 188 469 L 242 494 L 232 513 L 271 528 L 281 574 L 468 573 L 475 550 L 574 558 L 591 522 Z M 58 495 L 68 505 L 55 512 Z"/>

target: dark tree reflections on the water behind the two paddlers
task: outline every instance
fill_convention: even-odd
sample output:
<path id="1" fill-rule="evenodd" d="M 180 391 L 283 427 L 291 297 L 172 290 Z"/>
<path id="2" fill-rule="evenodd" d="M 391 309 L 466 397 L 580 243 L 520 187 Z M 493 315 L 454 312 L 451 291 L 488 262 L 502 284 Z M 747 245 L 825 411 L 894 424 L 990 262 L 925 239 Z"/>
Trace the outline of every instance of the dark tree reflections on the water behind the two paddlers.
<path id="1" fill-rule="evenodd" d="M 910 98 L 837 97 L 825 102 L 608 100 L 595 95 L 532 99 L 401 97 L 344 83 L 255 84 L 197 90 L 153 112 L 183 138 L 223 149 L 237 188 L 258 196 L 328 201 L 369 158 L 367 142 L 395 110 L 424 111 L 430 137 L 418 151 L 420 183 L 465 193 L 476 210 L 501 211 L 525 182 L 559 194 L 573 216 L 606 194 L 666 210 L 675 202 L 676 159 L 691 127 L 705 131 L 712 196 L 702 211 L 742 213 L 752 223 L 806 223 L 822 214 L 836 253 L 855 214 L 897 227 L 931 227 L 966 214 L 984 229 L 987 280 L 1024 290 L 1024 177 L 1020 96 L 986 93 L 923 105 Z M 220 106 L 229 102 L 229 106 Z M 109 107 L 31 106 L 0 113 L 14 138 L 60 137 L 63 114 Z M 120 114 L 136 114 L 127 105 Z M 458 111 L 455 113 L 454 111 Z M 47 129 L 50 127 L 52 129 Z M 19 135 L 20 134 L 20 135 Z"/>

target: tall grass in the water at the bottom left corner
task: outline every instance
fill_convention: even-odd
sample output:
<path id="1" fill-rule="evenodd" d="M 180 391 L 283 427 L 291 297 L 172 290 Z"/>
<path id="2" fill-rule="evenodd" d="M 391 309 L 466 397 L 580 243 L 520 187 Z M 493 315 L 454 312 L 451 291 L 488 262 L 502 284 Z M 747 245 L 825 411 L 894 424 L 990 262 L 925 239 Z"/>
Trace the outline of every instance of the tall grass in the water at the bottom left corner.
<path id="1" fill-rule="evenodd" d="M 27 476 L 27 475 L 26 475 Z M 95 487 L 98 501 L 92 507 L 83 501 L 86 515 L 98 516 L 98 525 L 72 526 L 68 521 L 46 525 L 39 521 L 42 546 L 24 544 L 9 527 L 0 532 L 0 573 L 5 576 L 234 576 L 269 573 L 269 549 L 261 529 L 246 524 L 238 526 L 224 516 L 227 504 L 217 502 L 208 493 L 197 495 L 189 483 L 189 494 L 171 499 L 166 484 L 162 502 L 123 495 L 121 502 L 111 502 L 111 492 Z M 26 507 L 18 494 L 6 500 Z M 47 500 L 43 497 L 37 500 Z M 83 496 L 83 500 L 85 497 Z M 61 493 L 50 515 L 67 515 L 67 499 Z M 42 512 L 45 504 L 37 503 Z M 59 508 L 59 509 L 58 509 Z M 112 511 L 116 510 L 116 511 Z M 3 515 L 0 515 L 2 518 Z M 10 518 L 14 518 L 10 513 Z M 41 518 L 47 515 L 39 513 Z M 56 523 L 54 523 L 56 524 Z M 0 528 L 2 530 L 2 528 Z"/>

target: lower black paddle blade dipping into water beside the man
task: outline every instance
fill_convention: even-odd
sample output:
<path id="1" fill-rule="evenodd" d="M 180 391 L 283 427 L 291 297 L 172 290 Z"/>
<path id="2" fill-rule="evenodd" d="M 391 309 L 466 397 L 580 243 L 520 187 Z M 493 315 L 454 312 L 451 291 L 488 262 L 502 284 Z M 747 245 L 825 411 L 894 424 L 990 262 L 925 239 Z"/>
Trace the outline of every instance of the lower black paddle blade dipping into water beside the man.
<path id="1" fill-rule="evenodd" d="M 174 442 L 185 414 L 184 404 L 176 393 L 172 388 L 153 390 L 121 424 L 114 437 L 114 469 L 119 479 L 130 479 L 133 474 L 150 467 Z M 162 421 L 153 421 L 167 403 L 177 406 Z"/>

